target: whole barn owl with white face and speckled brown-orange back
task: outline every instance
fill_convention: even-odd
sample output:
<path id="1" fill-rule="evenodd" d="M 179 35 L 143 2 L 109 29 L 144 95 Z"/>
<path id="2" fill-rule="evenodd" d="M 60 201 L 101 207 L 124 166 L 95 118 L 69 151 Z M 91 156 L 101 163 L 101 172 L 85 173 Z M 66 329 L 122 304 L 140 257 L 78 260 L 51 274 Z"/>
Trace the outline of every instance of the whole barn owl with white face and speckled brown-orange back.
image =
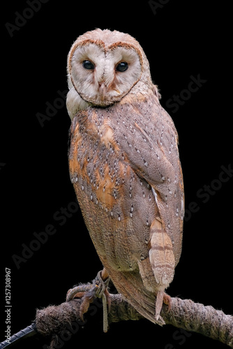
<path id="1" fill-rule="evenodd" d="M 182 244 L 176 128 L 129 34 L 79 36 L 67 70 L 70 179 L 84 222 L 118 292 L 159 322 Z"/>

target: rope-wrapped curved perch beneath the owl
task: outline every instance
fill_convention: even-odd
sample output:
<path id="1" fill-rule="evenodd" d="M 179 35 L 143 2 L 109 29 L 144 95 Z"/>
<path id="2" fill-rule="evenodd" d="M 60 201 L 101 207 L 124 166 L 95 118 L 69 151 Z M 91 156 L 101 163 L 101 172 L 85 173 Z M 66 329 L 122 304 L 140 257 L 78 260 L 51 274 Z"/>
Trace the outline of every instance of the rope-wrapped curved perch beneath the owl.
<path id="1" fill-rule="evenodd" d="M 140 320 L 142 315 L 137 313 L 133 306 L 123 300 L 122 296 L 111 295 L 112 304 L 109 323 L 123 320 Z M 95 302 L 98 302 L 98 304 Z M 51 336 L 50 348 L 55 348 L 59 336 L 77 332 L 84 322 L 80 320 L 80 299 L 73 299 L 59 306 L 48 306 L 36 311 L 36 328 L 40 334 Z M 95 313 L 100 308 L 100 300 L 91 304 L 89 312 Z M 167 306 L 163 306 L 161 315 L 166 325 L 173 325 L 186 331 L 197 332 L 227 344 L 233 348 L 233 316 L 225 315 L 223 311 L 204 306 L 190 299 L 172 298 L 172 309 L 167 313 Z"/>

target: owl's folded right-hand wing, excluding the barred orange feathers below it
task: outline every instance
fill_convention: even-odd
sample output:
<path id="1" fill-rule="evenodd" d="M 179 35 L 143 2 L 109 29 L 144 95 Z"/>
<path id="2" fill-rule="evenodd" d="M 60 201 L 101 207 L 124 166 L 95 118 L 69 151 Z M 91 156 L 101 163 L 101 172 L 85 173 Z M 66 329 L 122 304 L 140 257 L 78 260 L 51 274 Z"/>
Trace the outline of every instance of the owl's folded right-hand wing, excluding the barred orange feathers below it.
<path id="1" fill-rule="evenodd" d="M 114 124 L 114 126 L 113 126 Z M 114 139 L 121 144 L 130 166 L 152 187 L 176 264 L 181 254 L 184 195 L 178 137 L 173 121 L 158 99 L 126 103 L 114 121 Z"/>

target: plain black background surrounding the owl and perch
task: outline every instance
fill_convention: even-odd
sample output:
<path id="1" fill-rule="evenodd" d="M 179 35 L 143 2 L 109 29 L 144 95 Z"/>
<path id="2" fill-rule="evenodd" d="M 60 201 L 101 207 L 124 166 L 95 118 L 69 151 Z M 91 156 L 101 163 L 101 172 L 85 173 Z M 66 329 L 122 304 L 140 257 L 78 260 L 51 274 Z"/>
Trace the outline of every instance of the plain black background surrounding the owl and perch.
<path id="1" fill-rule="evenodd" d="M 5 4 L 0 128 L 1 341 L 6 329 L 6 267 L 11 270 L 11 334 L 29 325 L 36 309 L 64 302 L 69 288 L 91 281 L 102 268 L 80 210 L 63 220 L 55 219 L 61 207 L 66 209 L 75 202 L 67 159 L 70 119 L 64 101 L 61 99 L 54 117 L 43 125 L 36 117 L 38 112 L 46 114 L 46 103 L 56 104 L 58 91 L 67 90 L 66 57 L 73 41 L 96 27 L 124 31 L 139 40 L 153 82 L 162 94 L 161 104 L 179 133 L 187 210 L 183 252 L 167 292 L 232 313 L 232 174 L 223 176 L 225 182 L 219 180 L 221 166 L 232 164 L 231 10 L 225 3 L 213 1 L 157 3 L 160 8 L 153 13 L 147 1 L 49 0 L 32 14 L 25 10 L 27 1 Z M 15 22 L 17 13 L 30 18 L 10 34 L 5 24 L 19 24 Z M 200 75 L 206 82 L 174 112 L 166 103 L 174 95 L 187 96 L 183 90 L 188 89 L 191 75 Z M 203 196 L 205 186 L 211 186 L 209 196 Z M 22 256 L 22 244 L 29 246 L 35 239 L 33 233 L 44 232 L 50 224 L 56 233 L 17 269 L 12 256 Z M 89 317 L 87 325 L 63 348 L 85 343 L 135 346 L 140 340 L 144 346 L 166 349 L 225 347 L 200 334 L 182 334 L 174 327 L 154 326 L 147 320 L 112 324 L 103 334 L 101 321 L 101 311 Z M 27 341 L 24 348 L 43 348 L 43 341 Z"/>

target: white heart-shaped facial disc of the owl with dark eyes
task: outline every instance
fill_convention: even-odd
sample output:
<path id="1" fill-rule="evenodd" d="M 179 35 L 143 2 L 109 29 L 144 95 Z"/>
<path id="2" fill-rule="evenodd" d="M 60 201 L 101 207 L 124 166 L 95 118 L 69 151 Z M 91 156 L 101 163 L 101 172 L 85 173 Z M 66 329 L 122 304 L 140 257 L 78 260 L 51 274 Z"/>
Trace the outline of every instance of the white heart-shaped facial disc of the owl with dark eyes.
<path id="1" fill-rule="evenodd" d="M 84 101 L 100 106 L 120 101 L 140 80 L 141 73 L 137 51 L 124 43 L 107 48 L 101 42 L 77 45 L 68 64 L 77 93 Z"/>

